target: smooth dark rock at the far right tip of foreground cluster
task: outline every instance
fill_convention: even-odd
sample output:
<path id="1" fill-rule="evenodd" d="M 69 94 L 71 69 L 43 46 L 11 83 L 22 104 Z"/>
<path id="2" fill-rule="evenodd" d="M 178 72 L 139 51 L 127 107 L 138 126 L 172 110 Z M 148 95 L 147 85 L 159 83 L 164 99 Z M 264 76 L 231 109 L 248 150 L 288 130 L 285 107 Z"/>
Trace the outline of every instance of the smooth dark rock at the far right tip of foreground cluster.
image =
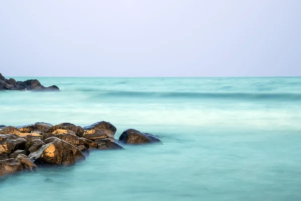
<path id="1" fill-rule="evenodd" d="M 123 131 L 119 137 L 119 143 L 125 144 L 147 144 L 147 143 L 156 143 L 161 141 L 152 134 L 141 133 L 140 131 L 134 129 L 128 129 Z"/>

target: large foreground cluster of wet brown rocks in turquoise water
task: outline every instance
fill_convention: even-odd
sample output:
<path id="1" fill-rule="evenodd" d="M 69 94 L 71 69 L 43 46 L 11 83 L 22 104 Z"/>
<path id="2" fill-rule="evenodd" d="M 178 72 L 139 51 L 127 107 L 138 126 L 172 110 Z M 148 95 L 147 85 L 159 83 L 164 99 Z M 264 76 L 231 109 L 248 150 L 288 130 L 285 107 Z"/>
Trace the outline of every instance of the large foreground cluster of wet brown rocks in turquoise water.
<path id="1" fill-rule="evenodd" d="M 80 127 L 70 123 L 51 125 L 0 126 L 0 176 L 40 166 L 67 166 L 84 160 L 90 149 L 124 149 L 120 144 L 146 144 L 161 141 L 158 136 L 125 130 L 114 139 L 116 127 L 101 121 Z"/>

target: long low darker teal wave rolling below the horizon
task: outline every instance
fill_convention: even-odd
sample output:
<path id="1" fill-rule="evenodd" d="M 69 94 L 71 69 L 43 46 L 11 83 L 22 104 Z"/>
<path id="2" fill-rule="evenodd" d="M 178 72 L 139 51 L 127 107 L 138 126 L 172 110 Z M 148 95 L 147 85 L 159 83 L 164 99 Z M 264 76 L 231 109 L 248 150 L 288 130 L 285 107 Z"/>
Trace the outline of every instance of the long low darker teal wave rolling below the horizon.
<path id="1" fill-rule="evenodd" d="M 98 91 L 99 92 L 99 91 Z M 97 96 L 301 100 L 301 93 L 101 91 Z"/>

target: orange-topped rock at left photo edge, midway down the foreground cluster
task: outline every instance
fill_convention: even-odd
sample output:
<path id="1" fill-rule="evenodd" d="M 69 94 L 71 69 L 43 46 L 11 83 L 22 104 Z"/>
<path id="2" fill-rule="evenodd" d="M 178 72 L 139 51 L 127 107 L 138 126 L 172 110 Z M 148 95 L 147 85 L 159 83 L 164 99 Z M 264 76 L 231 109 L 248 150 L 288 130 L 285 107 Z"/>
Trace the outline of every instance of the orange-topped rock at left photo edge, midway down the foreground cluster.
<path id="1" fill-rule="evenodd" d="M 16 135 L 0 135 L 0 154 L 13 153 L 17 149 L 25 149 L 26 140 Z"/>

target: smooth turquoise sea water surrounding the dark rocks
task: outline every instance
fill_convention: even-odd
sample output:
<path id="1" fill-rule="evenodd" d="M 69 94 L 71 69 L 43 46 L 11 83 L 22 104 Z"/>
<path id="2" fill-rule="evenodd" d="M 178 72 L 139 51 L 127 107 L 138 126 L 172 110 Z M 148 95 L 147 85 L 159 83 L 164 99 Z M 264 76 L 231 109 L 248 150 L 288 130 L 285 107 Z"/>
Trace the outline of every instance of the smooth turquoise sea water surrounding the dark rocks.
<path id="1" fill-rule="evenodd" d="M 0 125 L 105 120 L 164 145 L 8 176 L 0 200 L 301 200 L 301 77 L 38 79 L 61 91 L 0 91 Z"/>

